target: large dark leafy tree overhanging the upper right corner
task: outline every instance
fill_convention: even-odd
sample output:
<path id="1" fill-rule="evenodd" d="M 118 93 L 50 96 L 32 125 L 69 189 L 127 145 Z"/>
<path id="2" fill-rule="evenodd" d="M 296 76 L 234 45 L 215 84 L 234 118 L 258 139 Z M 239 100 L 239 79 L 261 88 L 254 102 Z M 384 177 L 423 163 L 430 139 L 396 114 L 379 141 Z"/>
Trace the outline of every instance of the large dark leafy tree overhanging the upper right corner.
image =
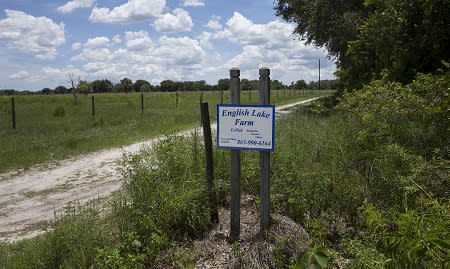
<path id="1" fill-rule="evenodd" d="M 349 88 L 386 76 L 408 83 L 450 61 L 447 0 L 277 0 L 275 10 L 328 50 Z"/>

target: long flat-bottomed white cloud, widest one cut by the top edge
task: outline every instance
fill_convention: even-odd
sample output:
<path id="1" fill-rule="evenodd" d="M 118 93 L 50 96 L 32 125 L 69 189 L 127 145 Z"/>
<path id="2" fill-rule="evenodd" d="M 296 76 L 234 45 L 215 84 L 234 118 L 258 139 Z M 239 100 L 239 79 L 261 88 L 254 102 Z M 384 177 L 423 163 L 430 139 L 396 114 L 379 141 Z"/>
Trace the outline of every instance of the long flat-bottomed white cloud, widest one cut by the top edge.
<path id="1" fill-rule="evenodd" d="M 127 3 L 109 8 L 95 7 L 89 20 L 101 23 L 132 23 L 158 18 L 166 6 L 165 0 L 128 0 Z"/>

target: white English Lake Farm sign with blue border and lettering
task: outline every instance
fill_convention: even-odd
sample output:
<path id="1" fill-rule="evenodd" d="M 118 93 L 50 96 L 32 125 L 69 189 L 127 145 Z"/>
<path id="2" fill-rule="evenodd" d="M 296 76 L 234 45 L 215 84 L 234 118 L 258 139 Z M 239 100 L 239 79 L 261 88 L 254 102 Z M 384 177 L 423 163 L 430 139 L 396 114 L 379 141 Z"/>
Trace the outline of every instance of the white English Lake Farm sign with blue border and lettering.
<path id="1" fill-rule="evenodd" d="M 217 105 L 217 145 L 221 149 L 273 151 L 275 106 Z"/>

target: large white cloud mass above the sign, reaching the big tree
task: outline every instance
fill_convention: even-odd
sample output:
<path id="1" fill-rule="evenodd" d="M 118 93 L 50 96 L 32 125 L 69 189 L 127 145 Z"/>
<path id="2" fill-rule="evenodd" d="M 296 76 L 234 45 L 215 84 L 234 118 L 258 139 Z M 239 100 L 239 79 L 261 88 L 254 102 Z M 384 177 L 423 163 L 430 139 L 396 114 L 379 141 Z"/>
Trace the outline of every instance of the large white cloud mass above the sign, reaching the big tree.
<path id="1" fill-rule="evenodd" d="M 238 66 L 241 77 L 252 75 L 245 70 L 257 70 L 268 66 L 279 80 L 317 79 L 317 62 L 326 52 L 305 46 L 292 36 L 293 25 L 278 20 L 267 24 L 255 24 L 238 12 L 228 19 L 225 28 L 203 38 L 220 39 L 242 46 L 240 52 L 227 59 L 221 68 Z M 324 62 L 325 63 L 325 62 Z M 323 77 L 333 77 L 335 66 L 322 65 Z M 296 78 L 296 79 L 292 79 Z"/>

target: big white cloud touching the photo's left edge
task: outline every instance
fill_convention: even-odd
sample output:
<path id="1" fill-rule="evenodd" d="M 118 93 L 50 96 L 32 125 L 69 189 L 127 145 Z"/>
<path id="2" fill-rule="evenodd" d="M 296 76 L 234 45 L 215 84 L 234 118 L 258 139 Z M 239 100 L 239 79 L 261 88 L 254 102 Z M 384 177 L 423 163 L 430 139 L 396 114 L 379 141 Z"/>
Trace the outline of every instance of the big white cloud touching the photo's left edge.
<path id="1" fill-rule="evenodd" d="M 38 59 L 54 59 L 56 48 L 65 40 L 64 23 L 56 24 L 47 17 L 33 17 L 22 11 L 5 10 L 0 20 L 0 42 L 8 47 L 35 53 Z"/>

